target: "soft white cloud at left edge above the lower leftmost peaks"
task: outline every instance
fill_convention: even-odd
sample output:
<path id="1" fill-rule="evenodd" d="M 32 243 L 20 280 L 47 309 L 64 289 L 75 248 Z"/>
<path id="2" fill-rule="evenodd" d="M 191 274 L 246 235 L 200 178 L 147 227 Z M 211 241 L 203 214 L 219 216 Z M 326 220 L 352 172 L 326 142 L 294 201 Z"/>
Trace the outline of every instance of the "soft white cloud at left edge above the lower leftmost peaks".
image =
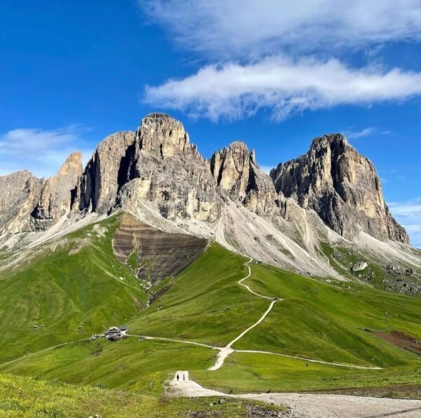
<path id="1" fill-rule="evenodd" d="M 90 149 L 83 144 L 86 130 L 80 125 L 9 130 L 0 136 L 0 175 L 24 169 L 39 177 L 54 175 L 73 151 L 82 151 L 84 158 L 90 156 Z"/>

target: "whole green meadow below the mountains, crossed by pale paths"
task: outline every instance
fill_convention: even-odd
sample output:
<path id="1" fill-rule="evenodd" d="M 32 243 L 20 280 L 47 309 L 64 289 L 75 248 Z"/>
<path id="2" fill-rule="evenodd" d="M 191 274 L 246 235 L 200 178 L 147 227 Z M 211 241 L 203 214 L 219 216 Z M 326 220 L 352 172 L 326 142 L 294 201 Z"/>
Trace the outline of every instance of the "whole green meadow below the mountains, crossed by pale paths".
<path id="1" fill-rule="evenodd" d="M 419 356 L 368 332 L 395 330 L 420 340 L 420 298 L 358 283 L 347 283 L 348 289 L 260 264 L 251 264 L 252 276 L 245 283 L 283 300 L 235 349 L 384 370 L 317 363 L 306 367 L 303 360 L 236 352 L 220 370 L 210 372 L 206 369 L 218 352 L 206 347 L 138 337 L 81 341 L 108 325 L 124 323 L 131 335 L 225 346 L 258 321 L 270 303 L 238 284 L 248 271 L 246 259 L 215 243 L 177 278 L 168 278 L 146 295 L 133 275 L 135 266 L 121 264 L 112 253 L 118 222 L 118 217 L 102 222 L 100 233 L 92 225 L 76 231 L 55 250 L 46 247 L 44 257 L 13 274 L 1 274 L 0 320 L 11 326 L 0 336 L 0 372 L 156 399 L 176 370 L 189 370 L 199 383 L 234 393 L 409 387 L 420 382 Z M 72 251 L 81 239 L 86 245 Z M 157 296 L 145 308 L 153 292 Z M 35 323 L 45 328 L 33 330 Z"/>

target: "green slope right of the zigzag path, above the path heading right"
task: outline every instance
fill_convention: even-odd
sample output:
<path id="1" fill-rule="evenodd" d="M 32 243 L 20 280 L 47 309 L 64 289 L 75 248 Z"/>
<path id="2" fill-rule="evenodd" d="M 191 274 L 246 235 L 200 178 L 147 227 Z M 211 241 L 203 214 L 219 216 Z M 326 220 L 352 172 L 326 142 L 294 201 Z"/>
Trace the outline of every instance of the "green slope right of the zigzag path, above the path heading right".
<path id="1" fill-rule="evenodd" d="M 421 337 L 421 301 L 366 286 L 328 285 L 253 264 L 248 285 L 283 298 L 237 349 L 265 349 L 354 365 L 400 365 L 416 357 L 365 331 L 394 329 Z M 347 286 L 349 283 L 346 284 Z M 385 322 L 385 312 L 388 322 Z"/>

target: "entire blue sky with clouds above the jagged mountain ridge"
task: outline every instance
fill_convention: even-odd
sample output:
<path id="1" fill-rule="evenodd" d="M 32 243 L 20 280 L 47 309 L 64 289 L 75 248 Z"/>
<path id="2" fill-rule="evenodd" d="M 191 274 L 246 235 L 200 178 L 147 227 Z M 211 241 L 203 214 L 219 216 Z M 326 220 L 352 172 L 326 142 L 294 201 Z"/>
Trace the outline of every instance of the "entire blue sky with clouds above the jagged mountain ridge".
<path id="1" fill-rule="evenodd" d="M 52 175 L 154 111 L 265 169 L 342 132 L 421 247 L 421 4 L 345 3 L 3 1 L 0 175 Z"/>

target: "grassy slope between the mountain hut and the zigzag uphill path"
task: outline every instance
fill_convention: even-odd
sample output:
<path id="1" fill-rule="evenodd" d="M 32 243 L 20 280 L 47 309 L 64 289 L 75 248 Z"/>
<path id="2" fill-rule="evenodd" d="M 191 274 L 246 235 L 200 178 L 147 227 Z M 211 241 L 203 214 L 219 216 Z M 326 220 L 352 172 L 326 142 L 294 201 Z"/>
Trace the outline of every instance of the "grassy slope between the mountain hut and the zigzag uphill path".
<path id="1" fill-rule="evenodd" d="M 228 344 L 267 309 L 264 300 L 238 285 L 247 274 L 244 262 L 220 245 L 210 245 L 162 297 L 129 322 L 130 333 Z"/>

